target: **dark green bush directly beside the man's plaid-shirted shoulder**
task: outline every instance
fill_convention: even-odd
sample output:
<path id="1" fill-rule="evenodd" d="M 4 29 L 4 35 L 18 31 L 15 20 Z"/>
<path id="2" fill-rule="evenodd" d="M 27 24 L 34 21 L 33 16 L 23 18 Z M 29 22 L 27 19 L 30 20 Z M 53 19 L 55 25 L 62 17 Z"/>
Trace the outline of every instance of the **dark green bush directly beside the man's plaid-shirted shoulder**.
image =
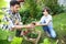
<path id="1" fill-rule="evenodd" d="M 30 18 L 29 10 L 28 9 L 24 9 L 24 10 L 21 9 L 20 14 L 21 14 L 21 19 L 22 19 L 23 24 L 29 23 L 29 18 Z"/>

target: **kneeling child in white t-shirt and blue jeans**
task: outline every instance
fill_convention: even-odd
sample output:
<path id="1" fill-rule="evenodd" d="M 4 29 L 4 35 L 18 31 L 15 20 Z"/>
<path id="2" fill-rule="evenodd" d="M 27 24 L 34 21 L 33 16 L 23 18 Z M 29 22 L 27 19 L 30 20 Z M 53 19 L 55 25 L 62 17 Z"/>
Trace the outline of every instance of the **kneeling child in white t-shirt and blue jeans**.
<path id="1" fill-rule="evenodd" d="M 36 25 L 42 25 L 43 30 L 50 34 L 51 37 L 56 37 L 56 33 L 53 30 L 52 15 L 50 14 L 50 9 L 47 7 L 43 9 L 43 16 L 41 18 L 41 21 L 36 23 Z"/>

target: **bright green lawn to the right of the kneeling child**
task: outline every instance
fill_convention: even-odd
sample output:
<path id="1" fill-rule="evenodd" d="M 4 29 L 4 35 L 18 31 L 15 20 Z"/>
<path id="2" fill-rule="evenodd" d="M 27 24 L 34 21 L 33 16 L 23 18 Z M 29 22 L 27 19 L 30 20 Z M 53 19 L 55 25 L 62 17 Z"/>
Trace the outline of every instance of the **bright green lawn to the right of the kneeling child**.
<path id="1" fill-rule="evenodd" d="M 53 20 L 54 29 L 57 32 L 58 36 L 65 35 L 66 33 L 66 13 L 61 13 L 54 16 Z"/>

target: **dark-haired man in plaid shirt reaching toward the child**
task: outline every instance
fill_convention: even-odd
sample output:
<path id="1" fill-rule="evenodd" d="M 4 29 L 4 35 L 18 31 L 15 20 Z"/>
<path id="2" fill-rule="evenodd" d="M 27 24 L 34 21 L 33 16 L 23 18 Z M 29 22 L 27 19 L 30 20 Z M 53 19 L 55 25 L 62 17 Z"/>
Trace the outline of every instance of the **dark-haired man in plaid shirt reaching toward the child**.
<path id="1" fill-rule="evenodd" d="M 9 31 L 14 31 L 16 29 L 16 36 L 20 36 L 22 28 L 33 28 L 30 25 L 22 25 L 21 16 L 19 14 L 20 7 L 21 7 L 20 2 L 10 1 L 10 10 L 7 11 L 3 18 L 3 21 L 9 22 L 9 24 L 2 25 L 2 29 L 9 30 Z M 9 41 L 11 40 L 12 38 L 10 37 Z"/>

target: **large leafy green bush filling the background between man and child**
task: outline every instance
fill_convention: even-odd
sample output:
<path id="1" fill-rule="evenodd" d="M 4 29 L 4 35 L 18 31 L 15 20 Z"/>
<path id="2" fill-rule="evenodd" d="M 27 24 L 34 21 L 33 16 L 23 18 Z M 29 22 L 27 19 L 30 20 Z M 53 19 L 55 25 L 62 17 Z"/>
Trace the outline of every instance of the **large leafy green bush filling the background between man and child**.
<path id="1" fill-rule="evenodd" d="M 25 24 L 36 21 L 42 15 L 41 11 L 41 7 L 36 4 L 35 0 L 32 0 L 32 2 L 31 0 L 26 0 L 20 10 L 22 22 Z"/>

